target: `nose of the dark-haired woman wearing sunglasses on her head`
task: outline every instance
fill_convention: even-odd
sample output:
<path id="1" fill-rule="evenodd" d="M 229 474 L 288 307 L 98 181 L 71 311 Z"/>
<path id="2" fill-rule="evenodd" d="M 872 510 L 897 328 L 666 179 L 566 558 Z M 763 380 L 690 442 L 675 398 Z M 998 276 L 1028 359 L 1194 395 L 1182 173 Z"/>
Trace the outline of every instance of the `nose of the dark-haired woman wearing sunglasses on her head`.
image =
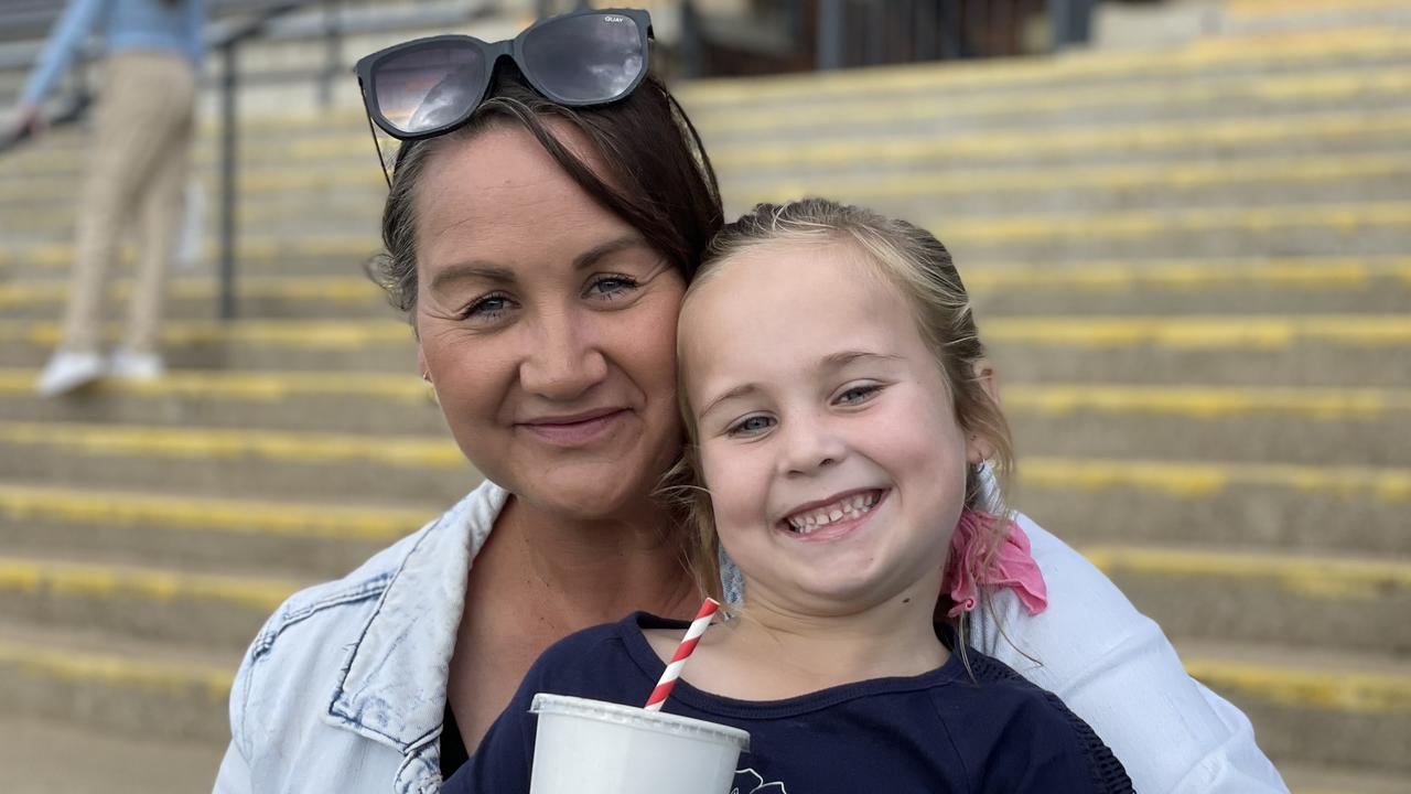
<path id="1" fill-rule="evenodd" d="M 521 386 L 539 397 L 570 401 L 581 397 L 608 374 L 608 363 L 594 339 L 591 324 L 571 312 L 547 315 L 528 339 Z"/>

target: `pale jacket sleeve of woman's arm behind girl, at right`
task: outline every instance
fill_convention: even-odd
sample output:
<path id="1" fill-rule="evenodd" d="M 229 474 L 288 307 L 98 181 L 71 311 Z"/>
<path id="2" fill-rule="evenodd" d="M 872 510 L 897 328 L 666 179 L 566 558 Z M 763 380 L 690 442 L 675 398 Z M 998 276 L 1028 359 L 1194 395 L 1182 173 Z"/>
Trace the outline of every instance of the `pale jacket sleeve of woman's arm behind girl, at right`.
<path id="1" fill-rule="evenodd" d="M 1077 551 L 1016 520 L 1048 608 L 1030 616 L 1012 591 L 996 592 L 993 613 L 976 610 L 975 647 L 1062 698 L 1143 794 L 1287 794 L 1249 719 L 1187 675 L 1161 629 Z"/>

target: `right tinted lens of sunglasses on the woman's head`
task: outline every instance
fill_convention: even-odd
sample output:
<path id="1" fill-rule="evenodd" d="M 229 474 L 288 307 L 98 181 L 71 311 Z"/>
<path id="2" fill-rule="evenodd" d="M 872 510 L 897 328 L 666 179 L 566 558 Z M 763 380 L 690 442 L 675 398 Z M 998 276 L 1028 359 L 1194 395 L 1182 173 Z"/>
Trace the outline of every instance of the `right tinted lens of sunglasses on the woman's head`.
<path id="1" fill-rule="evenodd" d="M 622 96 L 646 69 L 645 41 L 631 17 L 564 17 L 525 35 L 523 68 L 556 99 L 607 102 Z"/>

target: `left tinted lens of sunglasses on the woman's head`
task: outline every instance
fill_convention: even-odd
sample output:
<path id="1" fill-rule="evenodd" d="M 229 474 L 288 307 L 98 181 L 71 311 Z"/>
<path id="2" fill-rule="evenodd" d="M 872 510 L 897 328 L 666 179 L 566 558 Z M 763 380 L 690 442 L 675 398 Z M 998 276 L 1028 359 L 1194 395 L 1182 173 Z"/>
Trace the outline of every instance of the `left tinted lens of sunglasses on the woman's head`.
<path id="1" fill-rule="evenodd" d="M 484 90 L 484 58 L 470 45 L 411 49 L 373 71 L 377 109 L 404 134 L 450 124 L 474 107 Z"/>

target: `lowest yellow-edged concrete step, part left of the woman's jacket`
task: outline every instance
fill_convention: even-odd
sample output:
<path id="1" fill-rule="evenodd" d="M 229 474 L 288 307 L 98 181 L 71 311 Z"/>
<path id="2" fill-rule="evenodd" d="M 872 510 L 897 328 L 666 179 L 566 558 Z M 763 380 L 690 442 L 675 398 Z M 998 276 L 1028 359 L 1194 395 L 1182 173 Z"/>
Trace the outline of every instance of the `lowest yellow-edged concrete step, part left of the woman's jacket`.
<path id="1" fill-rule="evenodd" d="M 198 651 L 18 623 L 0 624 L 0 637 L 4 719 L 61 721 L 116 736 L 230 740 L 238 650 Z"/>

